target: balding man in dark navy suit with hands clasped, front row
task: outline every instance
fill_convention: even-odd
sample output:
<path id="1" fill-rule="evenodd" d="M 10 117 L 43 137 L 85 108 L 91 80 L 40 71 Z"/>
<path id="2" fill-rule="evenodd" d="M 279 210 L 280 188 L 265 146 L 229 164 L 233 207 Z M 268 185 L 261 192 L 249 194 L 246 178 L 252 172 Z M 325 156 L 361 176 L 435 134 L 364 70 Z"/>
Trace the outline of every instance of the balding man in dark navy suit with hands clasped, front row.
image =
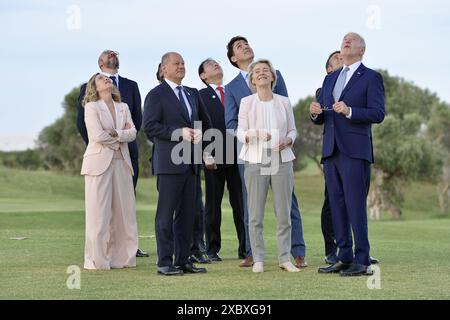
<path id="1" fill-rule="evenodd" d="M 203 129 L 209 116 L 198 91 L 181 84 L 184 60 L 176 52 L 161 59 L 164 80 L 144 102 L 144 131 L 153 141 L 153 174 L 157 176 L 158 205 L 155 217 L 158 274 L 204 273 L 190 260 L 197 208 L 197 183 L 202 157 Z M 175 260 L 174 260 L 175 256 Z"/>

